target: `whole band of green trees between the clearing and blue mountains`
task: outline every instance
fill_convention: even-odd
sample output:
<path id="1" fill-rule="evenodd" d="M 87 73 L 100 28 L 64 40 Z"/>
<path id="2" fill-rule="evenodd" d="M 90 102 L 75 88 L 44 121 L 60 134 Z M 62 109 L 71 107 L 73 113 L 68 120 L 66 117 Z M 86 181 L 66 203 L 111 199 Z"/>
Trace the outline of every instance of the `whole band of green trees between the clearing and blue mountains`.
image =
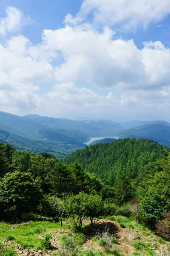
<path id="1" fill-rule="evenodd" d="M 125 139 L 90 146 L 72 156 L 80 152 L 84 164 L 86 159 L 95 167 L 101 157 L 107 168 L 101 162 L 97 177 L 93 168 L 88 172 L 87 163 L 84 170 L 78 162 L 65 164 L 49 153 L 36 155 L 1 143 L 1 220 L 21 219 L 27 212 L 37 213 L 40 218 L 58 215 L 61 221 L 69 215 L 81 227 L 85 216 L 92 221 L 104 214 L 132 214 L 137 222 L 162 230 L 161 225 L 170 218 L 169 148 L 149 140 Z M 101 166 L 108 176 L 104 180 Z"/>

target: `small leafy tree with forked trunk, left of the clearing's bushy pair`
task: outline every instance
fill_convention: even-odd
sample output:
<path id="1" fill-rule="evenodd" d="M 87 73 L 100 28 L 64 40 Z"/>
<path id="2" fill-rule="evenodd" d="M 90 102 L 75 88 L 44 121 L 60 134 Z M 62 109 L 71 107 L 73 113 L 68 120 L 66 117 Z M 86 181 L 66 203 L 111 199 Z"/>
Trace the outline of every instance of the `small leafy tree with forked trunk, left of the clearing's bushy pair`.
<path id="1" fill-rule="evenodd" d="M 82 227 L 82 221 L 87 216 L 88 194 L 80 192 L 78 195 L 69 196 L 66 202 L 68 215 L 72 216 L 76 228 Z"/>

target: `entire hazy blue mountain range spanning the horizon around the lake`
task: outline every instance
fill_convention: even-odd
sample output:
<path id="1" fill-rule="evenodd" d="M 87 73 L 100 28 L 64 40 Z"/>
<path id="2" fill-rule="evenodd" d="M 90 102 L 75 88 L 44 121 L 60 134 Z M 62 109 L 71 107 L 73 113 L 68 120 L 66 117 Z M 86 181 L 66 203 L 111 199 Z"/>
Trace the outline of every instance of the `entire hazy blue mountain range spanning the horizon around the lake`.
<path id="1" fill-rule="evenodd" d="M 70 120 L 29 114 L 17 116 L 0 112 L 0 141 L 20 150 L 40 154 L 51 152 L 61 158 L 79 148 L 89 137 L 119 136 L 146 138 L 170 146 L 170 123 L 165 121 L 114 122 L 111 120 Z M 95 143 L 113 140 L 103 139 Z"/>

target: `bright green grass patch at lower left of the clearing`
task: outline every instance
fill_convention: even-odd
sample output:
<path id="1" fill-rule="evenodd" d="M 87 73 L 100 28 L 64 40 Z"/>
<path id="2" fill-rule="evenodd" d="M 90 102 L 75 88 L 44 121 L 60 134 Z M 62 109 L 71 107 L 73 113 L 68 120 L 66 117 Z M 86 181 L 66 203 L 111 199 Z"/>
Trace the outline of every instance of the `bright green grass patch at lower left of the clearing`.
<path id="1" fill-rule="evenodd" d="M 41 238 L 35 234 L 55 232 L 61 229 L 60 223 L 49 221 L 33 221 L 27 226 L 24 223 L 16 225 L 16 229 L 11 229 L 14 225 L 0 222 L 0 238 L 1 240 L 15 240 L 21 244 L 23 248 L 41 248 Z M 72 224 L 63 223 L 62 229 L 72 228 Z M 45 228 L 43 232 L 42 229 Z"/>

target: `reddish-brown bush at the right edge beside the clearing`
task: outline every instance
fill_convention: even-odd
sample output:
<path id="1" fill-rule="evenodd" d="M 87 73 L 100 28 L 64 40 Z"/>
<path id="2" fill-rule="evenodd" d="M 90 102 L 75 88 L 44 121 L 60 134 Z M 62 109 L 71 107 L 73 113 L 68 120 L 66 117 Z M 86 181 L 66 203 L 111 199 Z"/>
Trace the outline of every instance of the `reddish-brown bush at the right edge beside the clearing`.
<path id="1" fill-rule="evenodd" d="M 165 212 L 164 219 L 156 223 L 156 232 L 163 238 L 170 240 L 170 212 Z"/>

